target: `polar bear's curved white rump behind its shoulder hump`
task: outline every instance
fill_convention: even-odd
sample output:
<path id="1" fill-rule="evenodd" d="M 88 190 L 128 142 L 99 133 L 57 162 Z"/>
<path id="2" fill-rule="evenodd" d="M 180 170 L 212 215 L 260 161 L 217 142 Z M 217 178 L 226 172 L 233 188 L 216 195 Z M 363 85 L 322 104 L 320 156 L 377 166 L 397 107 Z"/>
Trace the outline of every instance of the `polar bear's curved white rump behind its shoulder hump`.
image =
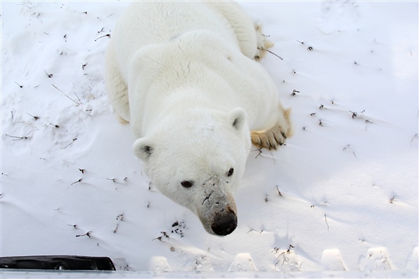
<path id="1" fill-rule="evenodd" d="M 165 43 L 181 33 L 197 29 L 214 31 L 229 45 L 239 47 L 230 23 L 211 4 L 133 2 L 120 17 L 113 32 L 113 41 L 121 43 L 116 47 L 119 64 L 128 65 L 135 52 L 146 45 Z M 128 80 L 127 70 L 121 67 L 125 80 Z"/>

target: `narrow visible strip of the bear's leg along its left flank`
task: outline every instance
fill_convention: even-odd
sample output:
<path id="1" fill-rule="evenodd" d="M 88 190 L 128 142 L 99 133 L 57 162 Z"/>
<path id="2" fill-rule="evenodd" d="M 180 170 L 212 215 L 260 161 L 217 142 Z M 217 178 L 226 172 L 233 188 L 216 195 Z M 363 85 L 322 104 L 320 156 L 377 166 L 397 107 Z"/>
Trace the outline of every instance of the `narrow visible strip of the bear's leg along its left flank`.
<path id="1" fill-rule="evenodd" d="M 115 110 L 120 123 L 129 123 L 128 86 L 119 72 L 112 39 L 105 54 L 105 86 L 110 105 Z"/>

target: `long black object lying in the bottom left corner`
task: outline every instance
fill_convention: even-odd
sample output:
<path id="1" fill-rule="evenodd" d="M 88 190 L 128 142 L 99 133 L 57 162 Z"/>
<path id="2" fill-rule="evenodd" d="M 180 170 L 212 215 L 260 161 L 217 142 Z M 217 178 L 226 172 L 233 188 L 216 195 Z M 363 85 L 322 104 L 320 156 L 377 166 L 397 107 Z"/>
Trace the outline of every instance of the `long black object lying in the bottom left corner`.
<path id="1" fill-rule="evenodd" d="M 115 266 L 108 257 L 27 256 L 0 257 L 0 269 L 115 271 Z"/>

